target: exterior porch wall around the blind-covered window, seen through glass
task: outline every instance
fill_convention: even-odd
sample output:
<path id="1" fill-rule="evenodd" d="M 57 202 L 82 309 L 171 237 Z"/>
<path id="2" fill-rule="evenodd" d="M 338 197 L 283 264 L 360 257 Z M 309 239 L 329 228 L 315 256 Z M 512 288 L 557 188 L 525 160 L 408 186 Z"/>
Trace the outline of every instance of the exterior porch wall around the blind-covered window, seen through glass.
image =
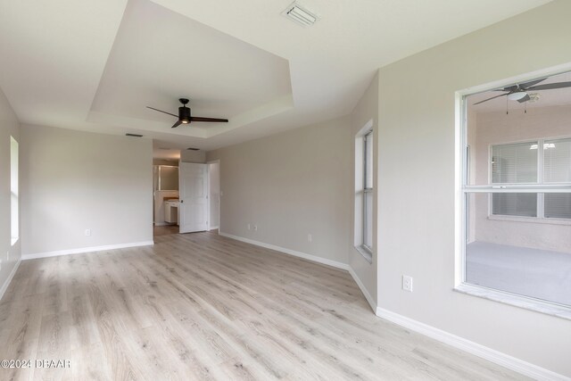
<path id="1" fill-rule="evenodd" d="M 540 101 L 541 102 L 541 101 Z M 522 111 L 486 112 L 476 115 L 476 184 L 487 185 L 489 176 L 490 145 L 518 141 L 571 137 L 571 110 L 569 106 L 530 108 Z M 476 241 L 494 244 L 532 247 L 571 253 L 571 226 L 560 225 L 545 219 L 527 219 L 525 222 L 488 219 L 487 197 L 476 198 Z"/>

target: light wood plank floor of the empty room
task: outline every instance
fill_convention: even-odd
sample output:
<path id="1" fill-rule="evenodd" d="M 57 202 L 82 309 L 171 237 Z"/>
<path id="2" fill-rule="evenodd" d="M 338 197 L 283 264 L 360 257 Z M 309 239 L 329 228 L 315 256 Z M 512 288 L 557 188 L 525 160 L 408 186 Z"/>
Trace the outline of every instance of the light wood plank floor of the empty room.
<path id="1" fill-rule="evenodd" d="M 343 270 L 218 236 L 24 261 L 0 302 L 0 379 L 524 377 L 409 332 Z"/>

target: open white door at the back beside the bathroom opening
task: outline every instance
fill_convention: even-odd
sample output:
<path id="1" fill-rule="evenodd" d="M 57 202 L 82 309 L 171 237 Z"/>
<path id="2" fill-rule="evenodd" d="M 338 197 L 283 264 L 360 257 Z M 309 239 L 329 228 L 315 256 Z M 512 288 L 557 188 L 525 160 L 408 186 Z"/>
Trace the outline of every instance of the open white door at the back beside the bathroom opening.
<path id="1" fill-rule="evenodd" d="M 178 167 L 180 233 L 208 228 L 208 164 L 181 162 Z"/>

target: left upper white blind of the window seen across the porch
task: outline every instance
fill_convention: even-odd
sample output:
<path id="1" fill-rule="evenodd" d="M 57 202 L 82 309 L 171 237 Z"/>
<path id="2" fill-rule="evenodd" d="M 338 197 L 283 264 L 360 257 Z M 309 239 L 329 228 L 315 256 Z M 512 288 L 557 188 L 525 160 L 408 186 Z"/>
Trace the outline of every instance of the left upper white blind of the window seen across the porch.
<path id="1" fill-rule="evenodd" d="M 536 183 L 537 143 L 492 146 L 492 183 Z"/>

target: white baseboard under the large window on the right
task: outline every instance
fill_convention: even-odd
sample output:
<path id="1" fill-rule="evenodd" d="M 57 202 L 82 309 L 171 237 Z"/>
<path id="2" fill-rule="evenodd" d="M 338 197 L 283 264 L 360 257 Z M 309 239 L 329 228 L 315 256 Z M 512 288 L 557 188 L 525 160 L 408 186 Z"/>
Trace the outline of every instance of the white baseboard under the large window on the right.
<path id="1" fill-rule="evenodd" d="M 449 344 L 464 352 L 472 353 L 485 360 L 492 361 L 498 365 L 501 365 L 502 367 L 515 370 L 517 373 L 527 377 L 532 377 L 537 380 L 571 380 L 571 378 L 560 375 L 559 373 L 555 373 L 549 369 L 544 369 L 524 360 L 519 360 L 515 357 L 509 356 L 508 354 L 498 352 L 484 345 L 471 342 L 457 335 L 452 335 L 451 333 L 445 332 L 442 329 L 428 326 L 424 323 L 407 318 L 393 311 L 388 311 L 377 307 L 377 316 L 381 319 L 389 320 L 395 324 L 398 324 L 401 327 L 409 328 L 415 332 L 418 332 L 419 334 L 432 337 L 433 339 L 438 340 L 444 344 Z"/>

